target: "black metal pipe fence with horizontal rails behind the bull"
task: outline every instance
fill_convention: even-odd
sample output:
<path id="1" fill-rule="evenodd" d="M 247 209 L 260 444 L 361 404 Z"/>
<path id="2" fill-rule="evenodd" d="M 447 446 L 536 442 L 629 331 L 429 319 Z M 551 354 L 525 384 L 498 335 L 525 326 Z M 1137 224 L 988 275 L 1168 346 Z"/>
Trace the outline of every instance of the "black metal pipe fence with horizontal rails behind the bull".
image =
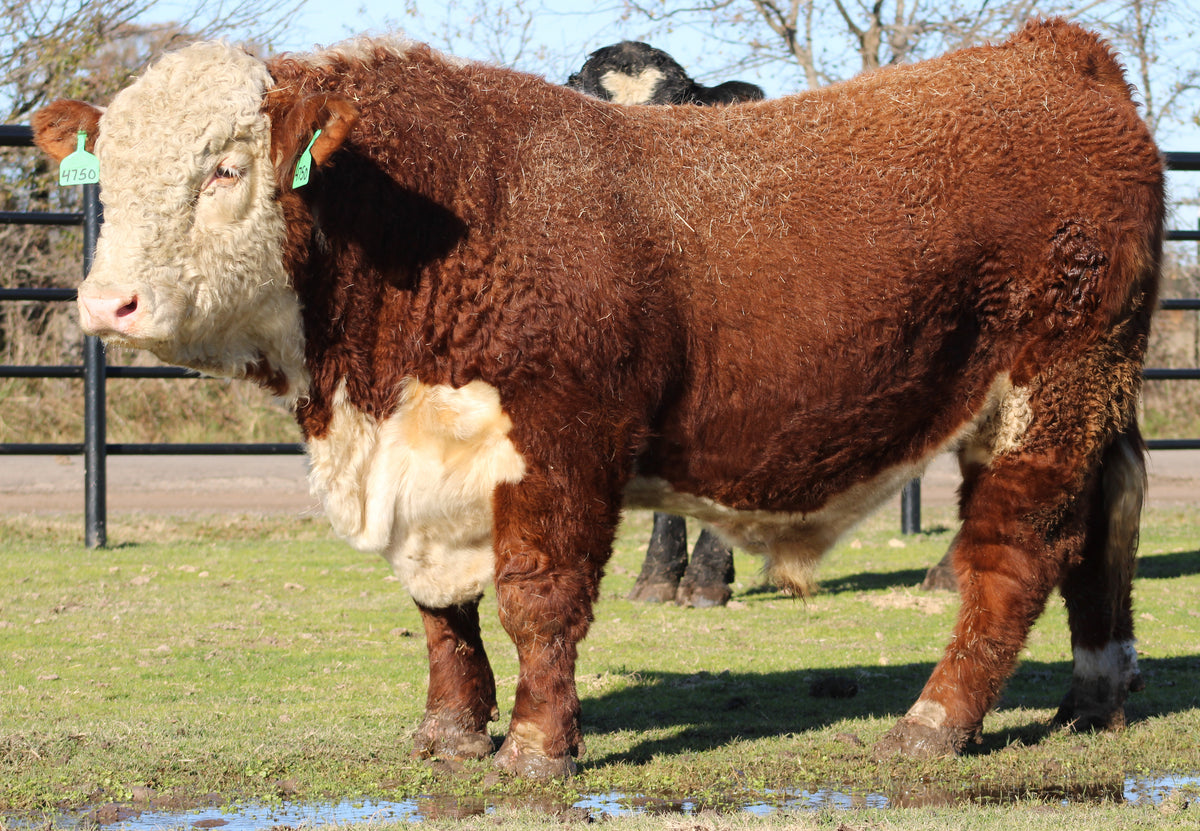
<path id="1" fill-rule="evenodd" d="M 24 125 L 0 125 L 0 147 L 32 147 L 32 130 Z M 1166 153 L 1168 167 L 1175 171 L 1200 171 L 1200 153 Z M 83 226 L 83 274 L 91 269 L 96 239 L 102 222 L 100 189 L 83 186 L 83 210 L 77 213 L 0 211 L 0 225 Z M 1169 231 L 1170 241 L 1198 241 L 1198 231 Z M 0 288 L 0 301 L 40 300 L 71 301 L 70 288 Z M 1165 310 L 1200 311 L 1200 298 L 1168 299 Z M 84 542 L 88 548 L 107 544 L 107 456 L 110 455 L 295 455 L 304 446 L 295 443 L 109 443 L 106 436 L 106 382 L 108 378 L 200 378 L 198 372 L 180 367 L 108 366 L 103 343 L 97 337 L 84 339 L 80 366 L 0 366 L 0 378 L 83 378 L 84 441 L 77 443 L 0 443 L 0 455 L 83 455 L 84 458 Z M 1200 367 L 1147 367 L 1145 377 L 1153 381 L 1200 381 Z M 1200 449 L 1200 438 L 1156 438 L 1147 442 L 1152 450 Z M 920 531 L 920 479 L 905 485 L 900 497 L 900 527 L 904 533 Z"/>

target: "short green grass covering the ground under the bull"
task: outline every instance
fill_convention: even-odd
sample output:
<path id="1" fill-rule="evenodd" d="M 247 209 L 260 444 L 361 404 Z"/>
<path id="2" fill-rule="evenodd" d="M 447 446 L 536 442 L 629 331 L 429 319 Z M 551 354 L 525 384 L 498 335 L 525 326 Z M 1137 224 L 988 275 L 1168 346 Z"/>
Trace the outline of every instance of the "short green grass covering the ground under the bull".
<path id="1" fill-rule="evenodd" d="M 720 808 L 832 787 L 961 806 L 866 812 L 888 818 L 878 827 L 910 815 L 928 824 L 904 827 L 943 827 L 938 815 L 956 823 L 944 827 L 971 827 L 991 811 L 980 805 L 1014 799 L 1030 806 L 1026 827 L 1049 827 L 1037 817 L 1063 795 L 1111 801 L 1130 776 L 1200 773 L 1200 521 L 1187 509 L 1144 522 L 1135 602 L 1147 689 L 1130 699 L 1129 729 L 1049 725 L 1070 671 L 1055 597 L 980 747 L 954 760 L 871 761 L 871 743 L 919 693 L 953 624 L 953 594 L 916 588 L 950 538 L 949 516 L 926 512 L 926 525 L 938 524 L 901 540 L 896 518 L 870 520 L 827 558 L 808 600 L 763 585 L 758 562 L 738 556 L 728 608 L 679 609 L 624 599 L 649 533 L 649 516 L 632 514 L 580 650 L 587 755 L 571 782 L 534 787 L 484 763 L 408 758 L 425 703 L 420 618 L 386 564 L 334 539 L 324 520 L 114 516 L 110 548 L 88 551 L 78 518 L 2 516 L 0 813 L 148 794 L 569 805 L 619 791 Z M 484 623 L 499 737 L 516 656 L 491 598 Z M 814 698 L 812 682 L 829 676 L 853 678 L 858 694 Z M 1200 815 L 1176 802 L 1121 817 L 1169 814 L 1178 827 Z M 842 819 L 829 827 L 851 821 Z"/>

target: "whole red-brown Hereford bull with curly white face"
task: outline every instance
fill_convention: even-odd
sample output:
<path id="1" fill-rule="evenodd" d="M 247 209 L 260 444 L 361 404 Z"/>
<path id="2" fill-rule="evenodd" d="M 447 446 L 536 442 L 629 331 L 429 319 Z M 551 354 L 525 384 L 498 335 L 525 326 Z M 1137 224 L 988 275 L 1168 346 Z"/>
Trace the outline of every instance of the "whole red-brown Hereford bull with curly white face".
<path id="1" fill-rule="evenodd" d="M 1055 586 L 1060 718 L 1122 723 L 1163 169 L 1096 36 L 1036 22 L 727 108 L 619 107 L 409 43 L 199 43 L 35 128 L 60 159 L 98 132 L 84 329 L 289 401 L 335 528 L 420 606 L 416 753 L 493 749 L 494 585 L 520 659 L 497 763 L 574 770 L 623 503 L 802 581 L 947 448 L 961 609 L 876 752 L 976 736 Z"/>

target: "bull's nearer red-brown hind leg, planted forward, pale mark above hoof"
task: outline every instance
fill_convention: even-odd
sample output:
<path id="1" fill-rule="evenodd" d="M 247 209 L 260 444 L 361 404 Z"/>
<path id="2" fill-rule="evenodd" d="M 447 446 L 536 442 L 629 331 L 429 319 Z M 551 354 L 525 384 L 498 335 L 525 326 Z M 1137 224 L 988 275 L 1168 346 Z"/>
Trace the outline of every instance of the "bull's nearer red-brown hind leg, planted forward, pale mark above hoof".
<path id="1" fill-rule="evenodd" d="M 1010 390 L 998 420 L 968 440 L 980 454 L 964 483 L 954 543 L 958 622 L 919 699 L 876 755 L 948 755 L 976 737 L 1050 591 L 1084 561 L 1104 443 L 1116 435 L 1116 414 L 1127 402 L 1132 409 L 1124 393 L 1136 389 L 1135 365 L 1099 363 L 1084 358 Z M 1073 597 L 1080 606 L 1097 602 Z M 1081 608 L 1076 616 L 1090 614 Z"/>

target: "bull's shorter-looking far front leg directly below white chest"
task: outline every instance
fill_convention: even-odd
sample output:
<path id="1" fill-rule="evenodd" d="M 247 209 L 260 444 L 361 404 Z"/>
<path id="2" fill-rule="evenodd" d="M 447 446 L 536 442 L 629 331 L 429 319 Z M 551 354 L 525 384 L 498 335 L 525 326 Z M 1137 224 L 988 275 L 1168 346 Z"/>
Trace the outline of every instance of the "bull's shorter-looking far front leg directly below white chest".
<path id="1" fill-rule="evenodd" d="M 430 689 L 413 754 L 485 758 L 494 749 L 487 723 L 499 713 L 479 633 L 479 600 L 449 609 L 419 608 L 430 653 Z"/>

